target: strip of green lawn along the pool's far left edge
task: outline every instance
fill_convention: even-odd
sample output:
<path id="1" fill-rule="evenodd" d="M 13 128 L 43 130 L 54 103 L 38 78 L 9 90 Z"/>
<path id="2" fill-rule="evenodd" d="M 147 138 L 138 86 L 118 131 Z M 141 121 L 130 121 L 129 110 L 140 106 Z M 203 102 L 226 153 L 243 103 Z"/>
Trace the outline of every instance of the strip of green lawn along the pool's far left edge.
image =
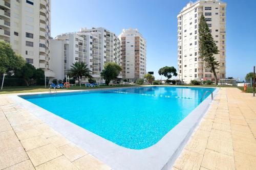
<path id="1" fill-rule="evenodd" d="M 85 89 L 96 89 L 96 88 L 115 88 L 115 87 L 131 87 L 131 85 L 120 85 L 120 86 L 99 86 L 99 87 L 85 87 L 81 86 L 71 86 L 69 90 L 85 90 Z M 63 91 L 67 89 L 57 89 L 57 91 Z M 41 92 L 41 91 L 49 91 L 49 86 L 45 88 L 45 86 L 22 86 L 22 87 L 3 87 L 3 90 L 0 90 L 0 94 L 7 93 L 26 93 L 26 92 Z"/>

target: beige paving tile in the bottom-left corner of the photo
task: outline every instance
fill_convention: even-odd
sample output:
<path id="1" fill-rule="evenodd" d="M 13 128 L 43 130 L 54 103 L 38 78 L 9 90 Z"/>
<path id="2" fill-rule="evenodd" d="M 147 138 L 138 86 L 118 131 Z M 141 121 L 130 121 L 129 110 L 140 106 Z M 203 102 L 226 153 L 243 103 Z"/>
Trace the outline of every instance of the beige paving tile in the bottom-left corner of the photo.
<path id="1" fill-rule="evenodd" d="M 28 159 L 29 158 L 22 147 L 0 152 L 0 169 L 7 168 Z"/>

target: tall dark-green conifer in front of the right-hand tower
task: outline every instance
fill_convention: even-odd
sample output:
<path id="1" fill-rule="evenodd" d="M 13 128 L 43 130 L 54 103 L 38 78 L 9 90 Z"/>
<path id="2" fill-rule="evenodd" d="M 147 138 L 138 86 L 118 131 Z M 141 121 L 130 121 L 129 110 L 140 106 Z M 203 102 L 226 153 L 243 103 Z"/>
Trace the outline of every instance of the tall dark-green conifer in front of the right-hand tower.
<path id="1" fill-rule="evenodd" d="M 199 57 L 203 60 L 205 69 L 209 69 L 210 72 L 214 73 L 215 84 L 218 84 L 216 71 L 219 69 L 220 63 L 216 61 L 214 54 L 219 54 L 219 50 L 203 15 L 200 18 L 198 31 Z"/>

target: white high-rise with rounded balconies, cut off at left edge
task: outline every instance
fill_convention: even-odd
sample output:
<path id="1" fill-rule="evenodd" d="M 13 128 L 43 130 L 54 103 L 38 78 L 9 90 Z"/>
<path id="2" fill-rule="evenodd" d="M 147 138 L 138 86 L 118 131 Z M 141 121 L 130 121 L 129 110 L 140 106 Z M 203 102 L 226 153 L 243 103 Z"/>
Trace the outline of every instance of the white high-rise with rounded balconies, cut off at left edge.
<path id="1" fill-rule="evenodd" d="M 0 40 L 11 44 L 14 52 L 28 63 L 49 69 L 51 28 L 50 0 L 0 0 Z"/>

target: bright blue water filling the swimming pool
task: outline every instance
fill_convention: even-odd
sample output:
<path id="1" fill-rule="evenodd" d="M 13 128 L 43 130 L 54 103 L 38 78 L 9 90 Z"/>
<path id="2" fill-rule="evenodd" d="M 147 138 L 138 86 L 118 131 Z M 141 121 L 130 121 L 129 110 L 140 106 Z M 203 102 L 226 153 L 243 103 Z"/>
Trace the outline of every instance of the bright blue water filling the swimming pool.
<path id="1" fill-rule="evenodd" d="M 181 122 L 205 91 L 214 89 L 139 87 L 21 97 L 122 147 L 139 150 Z"/>

